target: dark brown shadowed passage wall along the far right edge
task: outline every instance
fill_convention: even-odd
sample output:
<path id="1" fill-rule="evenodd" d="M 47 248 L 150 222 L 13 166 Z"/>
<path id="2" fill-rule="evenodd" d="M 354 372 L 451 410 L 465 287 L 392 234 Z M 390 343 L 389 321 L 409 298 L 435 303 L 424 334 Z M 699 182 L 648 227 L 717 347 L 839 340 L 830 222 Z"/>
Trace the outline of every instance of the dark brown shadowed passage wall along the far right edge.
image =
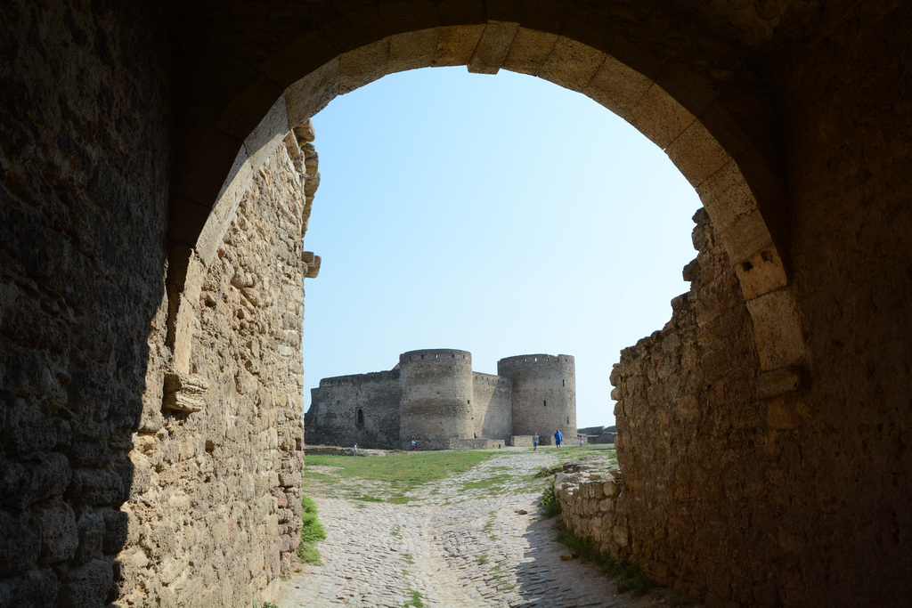
<path id="1" fill-rule="evenodd" d="M 787 601 L 912 597 L 912 5 L 860 5 L 779 68 L 805 394 L 773 402 Z"/>

